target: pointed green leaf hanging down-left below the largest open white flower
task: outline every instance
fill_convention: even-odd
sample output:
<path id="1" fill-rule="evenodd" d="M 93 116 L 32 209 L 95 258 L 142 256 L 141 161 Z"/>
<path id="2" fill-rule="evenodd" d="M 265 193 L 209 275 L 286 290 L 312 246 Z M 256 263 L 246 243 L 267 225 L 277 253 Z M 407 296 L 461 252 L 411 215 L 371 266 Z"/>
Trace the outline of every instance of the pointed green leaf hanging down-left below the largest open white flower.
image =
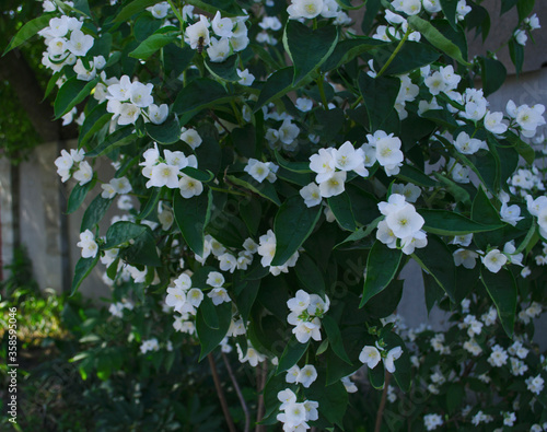
<path id="1" fill-rule="evenodd" d="M 364 271 L 363 296 L 359 307 L 363 307 L 374 295 L 382 292 L 397 273 L 403 252 L 391 249 L 380 241 L 375 241 Z"/>

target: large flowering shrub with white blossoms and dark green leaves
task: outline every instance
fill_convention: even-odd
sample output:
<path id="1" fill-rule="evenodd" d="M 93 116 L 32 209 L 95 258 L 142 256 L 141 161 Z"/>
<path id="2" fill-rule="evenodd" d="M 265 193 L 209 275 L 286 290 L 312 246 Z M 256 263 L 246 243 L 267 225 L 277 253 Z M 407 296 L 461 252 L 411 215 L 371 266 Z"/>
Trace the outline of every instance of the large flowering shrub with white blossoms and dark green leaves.
<path id="1" fill-rule="evenodd" d="M 56 161 L 79 182 L 69 211 L 95 195 L 73 291 L 101 261 L 110 285 L 132 281 L 125 297 L 162 293 L 200 360 L 235 343 L 241 362 L 270 365 L 261 420 L 286 431 L 350 421 L 363 365 L 383 392 L 366 393 L 360 422 L 376 430 L 543 428 L 529 320 L 546 299 L 532 266 L 547 261 L 547 198 L 526 140 L 545 107 L 489 109 L 504 68 L 467 60 L 466 31 L 488 35 L 479 3 L 44 1 L 9 48 L 44 37 L 56 116 L 81 124 L 78 151 Z M 520 72 L 539 23 L 534 1 L 502 12 L 515 3 Z M 101 156 L 115 178 L 93 172 Z M 125 213 L 101 232 L 117 195 Z M 387 319 L 409 260 L 428 307 L 452 311 L 446 332 Z M 114 293 L 123 316 L 131 306 Z M 173 349 L 171 332 L 141 353 Z M 392 376 L 408 395 L 446 397 L 389 419 Z"/>

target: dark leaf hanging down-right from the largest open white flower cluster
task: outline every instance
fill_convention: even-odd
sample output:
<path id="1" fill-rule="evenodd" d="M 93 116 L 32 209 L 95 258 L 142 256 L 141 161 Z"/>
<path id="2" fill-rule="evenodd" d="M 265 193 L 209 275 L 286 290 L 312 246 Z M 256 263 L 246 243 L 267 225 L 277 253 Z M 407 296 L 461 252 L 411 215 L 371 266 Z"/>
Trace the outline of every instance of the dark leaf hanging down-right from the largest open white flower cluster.
<path id="1" fill-rule="evenodd" d="M 428 235 L 428 245 L 415 249 L 412 258 L 430 273 L 452 302 L 456 293 L 456 265 L 452 252 L 437 235 Z"/>

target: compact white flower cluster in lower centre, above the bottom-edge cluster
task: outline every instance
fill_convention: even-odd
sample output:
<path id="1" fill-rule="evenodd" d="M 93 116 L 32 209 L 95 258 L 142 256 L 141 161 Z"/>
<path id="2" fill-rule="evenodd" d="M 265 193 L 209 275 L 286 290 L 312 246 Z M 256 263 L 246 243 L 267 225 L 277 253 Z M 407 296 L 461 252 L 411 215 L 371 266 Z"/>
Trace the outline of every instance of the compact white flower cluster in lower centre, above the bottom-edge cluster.
<path id="1" fill-rule="evenodd" d="M 287 302 L 291 311 L 287 322 L 294 326 L 292 332 L 300 343 L 310 339 L 321 340 L 321 318 L 328 311 L 329 299 L 323 300 L 317 294 L 309 294 L 304 290 L 296 291 L 296 295 Z"/>

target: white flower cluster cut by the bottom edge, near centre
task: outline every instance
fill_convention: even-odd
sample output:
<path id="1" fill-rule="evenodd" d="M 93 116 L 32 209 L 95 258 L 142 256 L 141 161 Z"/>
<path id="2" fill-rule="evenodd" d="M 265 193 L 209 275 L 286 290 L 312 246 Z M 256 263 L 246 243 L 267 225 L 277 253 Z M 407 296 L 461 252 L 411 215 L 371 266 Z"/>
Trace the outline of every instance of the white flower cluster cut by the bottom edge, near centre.
<path id="1" fill-rule="evenodd" d="M 317 408 L 319 404 L 313 400 L 298 402 L 296 395 L 290 388 L 278 393 L 277 398 L 281 402 L 277 419 L 283 423 L 284 432 L 295 432 L 310 429 L 307 421 L 319 418 Z"/>

